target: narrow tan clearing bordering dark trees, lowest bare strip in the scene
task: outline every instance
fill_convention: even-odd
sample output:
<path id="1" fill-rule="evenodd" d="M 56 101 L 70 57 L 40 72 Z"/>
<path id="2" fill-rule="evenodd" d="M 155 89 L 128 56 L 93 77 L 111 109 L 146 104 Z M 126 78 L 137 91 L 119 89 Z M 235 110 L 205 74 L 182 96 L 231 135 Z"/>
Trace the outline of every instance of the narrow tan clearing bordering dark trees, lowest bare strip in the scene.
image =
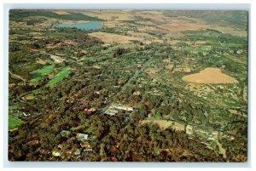
<path id="1" fill-rule="evenodd" d="M 173 129 L 177 131 L 184 131 L 185 126 L 183 123 L 177 123 L 177 122 L 172 122 L 172 121 L 166 121 L 166 120 L 161 120 L 161 119 L 154 119 L 154 120 L 143 120 L 141 122 L 142 124 L 146 123 L 157 123 L 160 128 L 166 129 L 172 127 Z"/>

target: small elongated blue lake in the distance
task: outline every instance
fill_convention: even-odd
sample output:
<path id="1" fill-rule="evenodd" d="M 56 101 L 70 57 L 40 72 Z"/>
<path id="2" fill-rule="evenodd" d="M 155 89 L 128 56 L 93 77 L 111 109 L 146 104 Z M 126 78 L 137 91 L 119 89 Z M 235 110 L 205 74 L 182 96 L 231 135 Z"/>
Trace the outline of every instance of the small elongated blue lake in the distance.
<path id="1" fill-rule="evenodd" d="M 102 29 L 102 25 L 98 22 L 78 23 L 78 24 L 55 24 L 55 27 L 78 28 L 78 29 L 82 29 L 82 30 Z"/>

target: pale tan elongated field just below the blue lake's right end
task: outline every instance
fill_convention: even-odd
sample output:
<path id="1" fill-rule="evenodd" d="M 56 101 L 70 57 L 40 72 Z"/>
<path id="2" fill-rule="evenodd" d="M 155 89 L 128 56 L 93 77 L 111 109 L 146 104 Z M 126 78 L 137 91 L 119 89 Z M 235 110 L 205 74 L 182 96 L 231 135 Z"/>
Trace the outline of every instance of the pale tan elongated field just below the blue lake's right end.
<path id="1" fill-rule="evenodd" d="M 91 37 L 96 37 L 101 39 L 104 43 L 121 43 L 127 44 L 131 43 L 132 40 L 143 41 L 141 37 L 127 37 L 123 35 L 108 33 L 108 32 L 92 32 L 89 34 Z"/>

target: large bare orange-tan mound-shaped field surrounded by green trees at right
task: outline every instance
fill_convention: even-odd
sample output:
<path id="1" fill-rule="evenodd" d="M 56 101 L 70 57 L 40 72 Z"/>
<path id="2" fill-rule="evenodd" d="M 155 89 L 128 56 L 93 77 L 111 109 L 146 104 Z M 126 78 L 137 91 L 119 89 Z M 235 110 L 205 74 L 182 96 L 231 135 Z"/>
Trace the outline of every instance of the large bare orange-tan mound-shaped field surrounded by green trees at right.
<path id="1" fill-rule="evenodd" d="M 222 73 L 219 68 L 206 68 L 199 73 L 182 77 L 182 79 L 189 83 L 238 83 L 234 77 Z"/>

